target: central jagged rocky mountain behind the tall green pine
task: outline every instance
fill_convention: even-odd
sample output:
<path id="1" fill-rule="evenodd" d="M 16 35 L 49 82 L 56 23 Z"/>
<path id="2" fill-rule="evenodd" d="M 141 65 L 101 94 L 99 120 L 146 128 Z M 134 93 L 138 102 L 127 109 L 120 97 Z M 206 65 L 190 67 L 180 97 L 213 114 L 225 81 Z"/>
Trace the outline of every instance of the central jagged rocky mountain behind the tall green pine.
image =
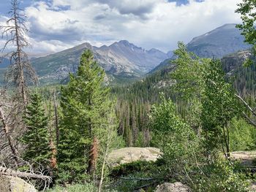
<path id="1" fill-rule="evenodd" d="M 123 40 L 102 47 L 83 43 L 59 53 L 35 58 L 31 63 L 39 75 L 40 82 L 61 82 L 68 77 L 69 72 L 76 71 L 80 55 L 86 49 L 93 51 L 94 57 L 107 72 L 109 81 L 140 77 L 168 58 L 167 54 L 160 50 L 144 50 Z"/>

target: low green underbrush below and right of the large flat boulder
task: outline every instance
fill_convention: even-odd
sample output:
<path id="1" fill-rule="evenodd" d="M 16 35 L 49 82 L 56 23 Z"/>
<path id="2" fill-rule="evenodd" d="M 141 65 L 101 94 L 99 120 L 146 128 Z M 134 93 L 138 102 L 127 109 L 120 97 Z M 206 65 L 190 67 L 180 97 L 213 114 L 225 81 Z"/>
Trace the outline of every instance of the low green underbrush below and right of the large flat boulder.
<path id="1" fill-rule="evenodd" d="M 238 162 L 230 163 L 224 158 L 214 162 L 190 166 L 190 169 L 173 173 L 167 162 L 160 158 L 156 162 L 138 161 L 115 167 L 110 177 L 110 188 L 117 191 L 154 191 L 162 183 L 181 182 L 197 192 L 245 192 L 249 191 L 248 170 L 241 169 Z"/>

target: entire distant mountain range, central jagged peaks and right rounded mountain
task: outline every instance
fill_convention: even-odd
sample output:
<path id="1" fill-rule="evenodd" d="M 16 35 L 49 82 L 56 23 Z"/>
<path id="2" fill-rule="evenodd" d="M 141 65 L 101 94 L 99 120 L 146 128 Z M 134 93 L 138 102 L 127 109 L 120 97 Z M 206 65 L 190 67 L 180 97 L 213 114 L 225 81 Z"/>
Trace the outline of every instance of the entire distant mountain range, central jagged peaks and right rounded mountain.
<path id="1" fill-rule="evenodd" d="M 220 26 L 213 31 L 193 38 L 187 44 L 189 51 L 206 58 L 222 58 L 224 55 L 248 48 L 249 45 L 244 43 L 244 37 L 241 36 L 241 31 L 236 28 L 236 24 Z M 76 72 L 80 55 L 86 49 L 94 53 L 94 58 L 105 69 L 106 81 L 113 84 L 138 80 L 148 72 L 153 73 L 165 68 L 175 58 L 171 50 L 168 53 L 154 48 L 145 50 L 126 40 L 102 47 L 95 47 L 86 42 L 59 53 L 31 58 L 31 64 L 39 75 L 41 85 L 67 80 L 69 72 Z M 4 59 L 3 63 L 0 64 L 1 74 L 7 65 L 7 59 Z"/>

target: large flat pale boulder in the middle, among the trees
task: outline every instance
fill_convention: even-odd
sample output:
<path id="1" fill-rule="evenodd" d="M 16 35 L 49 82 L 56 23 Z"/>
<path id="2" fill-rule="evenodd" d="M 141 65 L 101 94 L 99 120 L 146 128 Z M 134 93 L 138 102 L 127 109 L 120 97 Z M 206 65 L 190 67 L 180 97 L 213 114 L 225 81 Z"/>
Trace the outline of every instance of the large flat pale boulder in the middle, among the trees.
<path id="1" fill-rule="evenodd" d="M 134 161 L 157 161 L 161 154 L 155 147 L 125 147 L 113 150 L 108 155 L 108 161 L 114 166 Z"/>

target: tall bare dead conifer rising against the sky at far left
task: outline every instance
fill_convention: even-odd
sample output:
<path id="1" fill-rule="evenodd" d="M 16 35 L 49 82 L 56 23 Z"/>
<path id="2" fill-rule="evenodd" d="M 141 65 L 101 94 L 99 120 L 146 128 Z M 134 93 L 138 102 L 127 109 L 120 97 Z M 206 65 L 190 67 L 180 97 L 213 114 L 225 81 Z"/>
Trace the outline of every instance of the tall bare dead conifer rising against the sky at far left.
<path id="1" fill-rule="evenodd" d="M 23 104 L 27 104 L 26 85 L 29 82 L 37 84 L 37 75 L 29 63 L 28 55 L 25 48 L 29 47 L 26 39 L 28 28 L 26 28 L 26 15 L 23 15 L 19 8 L 18 0 L 11 1 L 12 8 L 9 12 L 10 18 L 6 22 L 6 26 L 0 26 L 2 37 L 7 38 L 7 42 L 2 48 L 2 53 L 7 47 L 15 47 L 10 53 L 6 53 L 5 57 L 10 58 L 10 68 L 7 70 L 6 80 L 8 83 L 14 83 L 18 88 L 19 98 Z"/>

